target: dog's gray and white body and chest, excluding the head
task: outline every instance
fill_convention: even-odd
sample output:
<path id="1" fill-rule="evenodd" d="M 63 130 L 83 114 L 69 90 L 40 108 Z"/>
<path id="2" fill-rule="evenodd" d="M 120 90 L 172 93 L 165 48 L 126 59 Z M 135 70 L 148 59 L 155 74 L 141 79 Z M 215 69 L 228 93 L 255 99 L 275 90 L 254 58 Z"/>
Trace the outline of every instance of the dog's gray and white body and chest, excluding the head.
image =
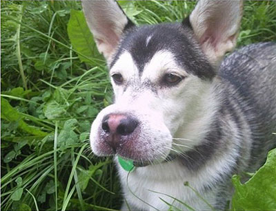
<path id="1" fill-rule="evenodd" d="M 271 63 L 274 61 L 274 63 Z M 168 210 L 165 199 L 185 209 L 166 193 L 195 210 L 210 210 L 184 181 L 216 209 L 224 209 L 232 190 L 230 177 L 254 171 L 264 162 L 269 148 L 275 147 L 276 49 L 273 43 L 244 47 L 224 60 L 214 82 L 217 108 L 204 137 L 205 144 L 188 151 L 174 162 L 137 168 L 128 186 L 140 199 L 158 210 Z M 266 143 L 265 143 L 266 142 Z M 125 197 L 134 210 L 152 210 L 130 193 L 128 173 L 119 168 Z M 124 210 L 124 209 L 123 209 Z"/>

